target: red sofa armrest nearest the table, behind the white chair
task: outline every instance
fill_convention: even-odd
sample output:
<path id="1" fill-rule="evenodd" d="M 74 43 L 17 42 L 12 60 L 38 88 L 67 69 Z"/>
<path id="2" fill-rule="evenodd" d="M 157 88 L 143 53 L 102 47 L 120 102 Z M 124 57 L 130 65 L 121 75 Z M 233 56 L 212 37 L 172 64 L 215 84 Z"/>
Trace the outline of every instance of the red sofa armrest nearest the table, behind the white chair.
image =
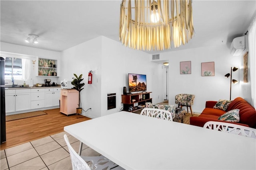
<path id="1" fill-rule="evenodd" d="M 235 123 L 235 122 L 230 122 L 230 121 L 222 121 L 222 120 L 212 119 L 212 118 L 208 118 L 208 117 L 190 117 L 190 125 L 204 127 L 204 124 L 206 122 L 208 122 L 208 121 L 218 121 L 218 122 L 225 122 L 225 123 L 233 123 L 233 124 L 249 127 L 248 125 L 242 124 L 242 123 Z"/>

